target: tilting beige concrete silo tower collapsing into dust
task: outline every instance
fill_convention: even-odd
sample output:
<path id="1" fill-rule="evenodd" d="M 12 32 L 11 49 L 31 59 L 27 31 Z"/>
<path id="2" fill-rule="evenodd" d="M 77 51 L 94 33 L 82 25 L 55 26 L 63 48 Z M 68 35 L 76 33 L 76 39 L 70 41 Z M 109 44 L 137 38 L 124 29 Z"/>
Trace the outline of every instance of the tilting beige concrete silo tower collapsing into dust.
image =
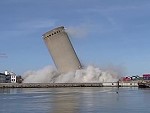
<path id="1" fill-rule="evenodd" d="M 81 68 L 80 61 L 63 26 L 48 31 L 43 35 L 43 39 L 60 73 Z"/>

